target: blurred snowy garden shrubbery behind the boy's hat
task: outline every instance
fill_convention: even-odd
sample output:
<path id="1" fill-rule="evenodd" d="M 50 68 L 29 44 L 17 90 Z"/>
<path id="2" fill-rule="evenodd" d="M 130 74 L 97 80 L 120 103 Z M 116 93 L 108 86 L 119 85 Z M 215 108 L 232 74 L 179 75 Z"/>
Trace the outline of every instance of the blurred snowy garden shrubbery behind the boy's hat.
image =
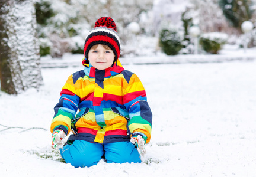
<path id="1" fill-rule="evenodd" d="M 256 0 L 36 0 L 40 55 L 83 53 L 86 35 L 103 16 L 116 22 L 121 57 L 217 54 L 224 44 L 251 48 L 255 9 Z M 243 30 L 245 21 L 251 24 Z"/>

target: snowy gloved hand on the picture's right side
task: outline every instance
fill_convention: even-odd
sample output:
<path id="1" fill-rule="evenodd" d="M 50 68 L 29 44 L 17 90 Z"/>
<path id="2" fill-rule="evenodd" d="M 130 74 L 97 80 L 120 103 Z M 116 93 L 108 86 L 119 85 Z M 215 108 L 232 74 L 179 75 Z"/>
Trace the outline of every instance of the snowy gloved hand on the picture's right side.
<path id="1" fill-rule="evenodd" d="M 145 142 L 146 142 L 147 137 L 140 132 L 135 132 L 132 135 L 132 138 L 130 140 L 131 143 L 133 143 L 136 148 L 139 148 L 140 153 L 142 155 L 146 154 L 146 149 L 145 149 Z"/>

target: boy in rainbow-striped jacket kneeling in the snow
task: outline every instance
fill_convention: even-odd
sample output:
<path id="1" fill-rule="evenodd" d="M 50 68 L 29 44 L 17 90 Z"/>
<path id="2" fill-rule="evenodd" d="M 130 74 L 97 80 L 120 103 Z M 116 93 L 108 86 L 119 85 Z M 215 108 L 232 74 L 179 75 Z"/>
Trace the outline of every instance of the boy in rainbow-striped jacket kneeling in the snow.
<path id="1" fill-rule="evenodd" d="M 140 163 L 136 148 L 144 152 L 143 145 L 151 139 L 152 113 L 139 78 L 120 64 L 112 18 L 95 22 L 84 54 L 84 70 L 69 76 L 54 108 L 53 147 L 61 146 L 72 130 L 60 153 L 75 167 L 96 165 L 101 158 L 107 163 Z"/>

